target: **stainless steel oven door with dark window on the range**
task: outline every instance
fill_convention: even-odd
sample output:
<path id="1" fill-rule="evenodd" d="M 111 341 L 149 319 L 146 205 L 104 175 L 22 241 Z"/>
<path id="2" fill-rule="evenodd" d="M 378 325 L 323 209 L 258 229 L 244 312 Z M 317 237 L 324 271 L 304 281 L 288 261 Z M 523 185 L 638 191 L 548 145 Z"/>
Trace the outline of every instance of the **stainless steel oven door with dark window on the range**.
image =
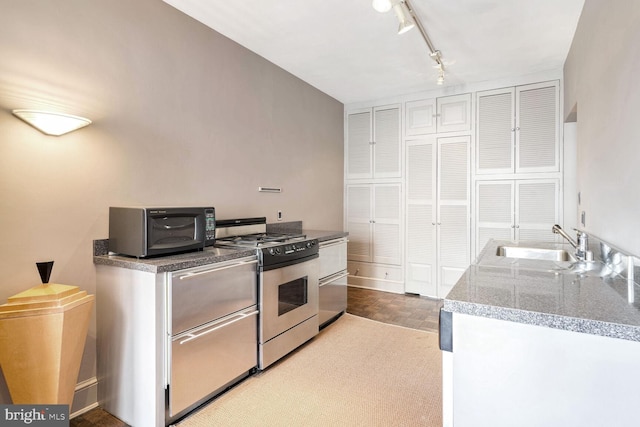
<path id="1" fill-rule="evenodd" d="M 260 343 L 318 314 L 318 258 L 262 273 Z"/>

